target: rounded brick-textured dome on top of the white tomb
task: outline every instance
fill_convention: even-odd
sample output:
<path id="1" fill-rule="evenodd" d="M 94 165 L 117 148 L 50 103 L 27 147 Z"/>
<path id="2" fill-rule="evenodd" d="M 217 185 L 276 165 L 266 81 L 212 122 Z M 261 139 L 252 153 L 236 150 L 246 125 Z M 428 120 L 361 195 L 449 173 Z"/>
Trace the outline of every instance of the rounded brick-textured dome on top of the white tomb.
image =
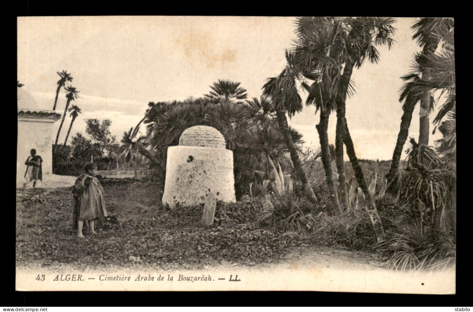
<path id="1" fill-rule="evenodd" d="M 219 130 L 209 126 L 193 126 L 184 130 L 179 145 L 225 148 L 225 138 Z"/>

